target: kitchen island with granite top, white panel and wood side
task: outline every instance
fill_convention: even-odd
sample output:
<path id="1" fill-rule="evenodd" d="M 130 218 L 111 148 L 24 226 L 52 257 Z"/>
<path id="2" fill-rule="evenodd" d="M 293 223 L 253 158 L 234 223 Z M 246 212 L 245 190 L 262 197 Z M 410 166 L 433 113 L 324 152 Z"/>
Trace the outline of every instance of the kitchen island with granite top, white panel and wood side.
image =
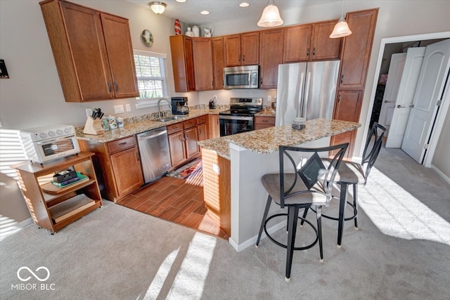
<path id="1" fill-rule="evenodd" d="M 280 145 L 321 147 L 330 136 L 352 131 L 361 124 L 330 119 L 307 121 L 302 130 L 290 125 L 238 133 L 199 142 L 202 146 L 205 204 L 213 219 L 230 235 L 236 251 L 255 244 L 267 194 L 261 177 L 279 168 Z M 270 213 L 281 209 L 271 207 Z M 269 233 L 285 221 L 268 228 Z"/>

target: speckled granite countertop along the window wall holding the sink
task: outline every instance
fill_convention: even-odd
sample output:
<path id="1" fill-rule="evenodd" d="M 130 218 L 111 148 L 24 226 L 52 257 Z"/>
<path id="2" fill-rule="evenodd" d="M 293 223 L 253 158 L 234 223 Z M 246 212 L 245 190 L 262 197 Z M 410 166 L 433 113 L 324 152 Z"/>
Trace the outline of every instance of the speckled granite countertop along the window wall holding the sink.
<path id="1" fill-rule="evenodd" d="M 113 130 L 107 130 L 105 131 L 105 133 L 101 133 L 98 135 L 84 134 L 83 133 L 84 126 L 80 126 L 76 128 L 77 138 L 79 138 L 80 140 L 98 141 L 106 143 L 120 138 L 125 138 L 127 136 L 133 136 L 134 134 L 142 133 L 144 131 L 178 123 L 186 119 L 193 119 L 195 117 L 200 117 L 202 115 L 218 115 L 219 112 L 221 112 L 222 110 L 224 110 L 224 108 L 217 108 L 214 110 L 210 109 L 189 110 L 189 114 L 186 115 L 186 117 L 184 117 L 183 119 L 176 119 L 169 122 L 159 122 L 158 119 L 152 119 L 150 115 L 131 117 L 125 119 L 124 127 Z"/>

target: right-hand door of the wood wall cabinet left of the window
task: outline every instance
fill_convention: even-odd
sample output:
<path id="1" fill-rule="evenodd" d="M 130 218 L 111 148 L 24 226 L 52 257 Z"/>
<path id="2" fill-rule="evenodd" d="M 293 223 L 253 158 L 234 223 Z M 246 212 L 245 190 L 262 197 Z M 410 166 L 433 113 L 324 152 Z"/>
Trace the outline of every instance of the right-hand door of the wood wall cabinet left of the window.
<path id="1" fill-rule="evenodd" d="M 101 22 L 113 75 L 112 89 L 115 98 L 138 97 L 138 81 L 128 20 L 102 13 Z"/>

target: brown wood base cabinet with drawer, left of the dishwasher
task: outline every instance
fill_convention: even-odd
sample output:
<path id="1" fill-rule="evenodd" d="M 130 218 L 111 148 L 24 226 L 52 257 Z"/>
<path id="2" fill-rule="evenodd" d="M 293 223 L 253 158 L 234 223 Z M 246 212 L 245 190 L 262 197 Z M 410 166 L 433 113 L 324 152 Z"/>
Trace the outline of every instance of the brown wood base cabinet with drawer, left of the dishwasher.
<path id="1" fill-rule="evenodd" d="M 136 136 L 108 143 L 79 140 L 79 146 L 96 153 L 94 166 L 105 199 L 117 202 L 143 185 Z"/>

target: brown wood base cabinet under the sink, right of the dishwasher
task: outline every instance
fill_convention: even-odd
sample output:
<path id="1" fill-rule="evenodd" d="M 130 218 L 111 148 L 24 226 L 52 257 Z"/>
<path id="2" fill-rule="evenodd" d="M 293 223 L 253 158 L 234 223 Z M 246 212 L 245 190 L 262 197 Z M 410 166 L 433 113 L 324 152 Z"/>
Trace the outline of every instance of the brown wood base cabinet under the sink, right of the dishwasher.
<path id="1" fill-rule="evenodd" d="M 167 125 L 172 169 L 200 155 L 198 148 L 197 118 Z"/>

